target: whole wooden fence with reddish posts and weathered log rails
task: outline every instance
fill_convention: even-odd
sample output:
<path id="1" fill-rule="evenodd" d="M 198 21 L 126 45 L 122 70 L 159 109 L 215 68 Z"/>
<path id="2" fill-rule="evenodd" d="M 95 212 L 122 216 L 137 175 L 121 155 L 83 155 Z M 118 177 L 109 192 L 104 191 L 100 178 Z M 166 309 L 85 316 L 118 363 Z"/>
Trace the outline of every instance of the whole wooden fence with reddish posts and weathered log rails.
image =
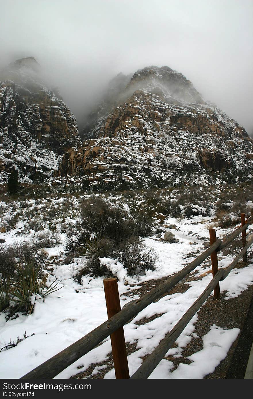
<path id="1" fill-rule="evenodd" d="M 111 336 L 112 342 L 116 378 L 129 378 L 128 367 L 126 369 L 127 360 L 123 326 L 133 317 L 135 317 L 139 312 L 141 312 L 141 310 L 146 308 L 149 304 L 161 298 L 161 296 L 163 296 L 165 292 L 169 292 L 171 288 L 175 286 L 175 284 L 177 284 L 185 276 L 191 273 L 197 266 L 199 266 L 205 259 L 207 259 L 207 257 L 211 255 L 213 279 L 210 281 L 207 288 L 205 288 L 199 298 L 182 316 L 179 322 L 177 322 L 172 330 L 165 335 L 163 340 L 159 342 L 157 348 L 155 348 L 155 350 L 148 356 L 148 358 L 143 361 L 139 369 L 137 369 L 137 371 L 135 371 L 135 373 L 130 378 L 144 379 L 149 377 L 149 375 L 159 364 L 163 356 L 165 356 L 165 354 L 174 344 L 175 340 L 179 337 L 191 318 L 203 305 L 203 303 L 213 290 L 215 297 L 219 298 L 219 281 L 224 280 L 229 275 L 230 271 L 233 269 L 233 267 L 235 267 L 241 257 L 243 257 L 244 261 L 245 259 L 247 259 L 247 249 L 253 243 L 253 238 L 251 238 L 247 243 L 246 229 L 247 226 L 252 222 L 253 209 L 251 209 L 251 216 L 247 220 L 245 220 L 245 214 L 242 213 L 241 227 L 239 229 L 236 229 L 234 233 L 229 235 L 229 237 L 225 241 L 222 241 L 221 239 L 216 239 L 215 230 L 210 229 L 210 247 L 206 251 L 201 253 L 201 255 L 199 255 L 196 259 L 194 259 L 194 261 L 189 263 L 189 265 L 185 266 L 181 271 L 171 277 L 168 277 L 168 279 L 163 282 L 163 284 L 160 284 L 159 286 L 153 288 L 153 290 L 142 296 L 140 299 L 128 302 L 125 306 L 123 306 L 121 310 L 119 307 L 119 300 L 116 297 L 118 296 L 117 284 L 116 292 L 114 282 L 109 282 L 109 285 L 107 286 L 104 283 L 106 304 L 108 310 L 108 320 L 106 320 L 106 322 L 95 328 L 86 336 L 74 342 L 74 344 L 68 346 L 68 348 L 62 350 L 57 355 L 48 359 L 21 378 L 52 379 L 61 371 L 74 363 L 76 360 L 80 359 L 82 356 L 90 352 L 90 350 L 92 350 L 96 345 L 100 344 L 100 342 L 102 342 L 109 335 Z M 225 249 L 239 234 L 242 234 L 242 251 L 237 255 L 237 257 L 235 257 L 233 262 L 231 262 L 228 267 L 226 267 L 225 269 L 218 269 L 217 252 Z M 116 281 L 116 279 L 107 280 Z M 111 290 L 110 295 L 110 287 L 113 286 L 114 288 Z M 110 315 L 112 314 L 114 315 L 110 317 Z M 118 345 L 119 340 L 121 344 Z"/>

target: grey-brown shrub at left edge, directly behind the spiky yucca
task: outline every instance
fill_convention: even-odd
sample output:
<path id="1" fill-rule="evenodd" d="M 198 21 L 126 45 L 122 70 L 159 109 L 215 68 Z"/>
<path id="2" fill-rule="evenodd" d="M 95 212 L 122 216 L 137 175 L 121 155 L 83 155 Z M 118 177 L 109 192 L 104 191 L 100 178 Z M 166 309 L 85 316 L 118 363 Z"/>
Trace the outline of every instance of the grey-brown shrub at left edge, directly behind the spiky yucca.
<path id="1" fill-rule="evenodd" d="M 15 242 L 0 246 L 0 273 L 9 277 L 14 273 L 17 262 L 28 262 L 32 260 L 35 267 L 42 267 L 48 254 L 39 250 L 31 243 Z"/>

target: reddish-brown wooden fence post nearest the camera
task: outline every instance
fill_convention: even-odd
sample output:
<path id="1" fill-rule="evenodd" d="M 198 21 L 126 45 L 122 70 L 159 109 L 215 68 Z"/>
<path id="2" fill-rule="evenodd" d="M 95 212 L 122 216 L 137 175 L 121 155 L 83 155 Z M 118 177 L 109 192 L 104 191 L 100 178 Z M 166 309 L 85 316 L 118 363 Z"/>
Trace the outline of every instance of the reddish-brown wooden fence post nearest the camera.
<path id="1" fill-rule="evenodd" d="M 106 296 L 106 308 L 108 319 L 120 312 L 120 296 L 116 278 L 104 279 L 104 291 Z M 129 378 L 129 370 L 126 354 L 126 342 L 123 327 L 110 335 L 112 344 L 112 356 L 116 378 Z"/>

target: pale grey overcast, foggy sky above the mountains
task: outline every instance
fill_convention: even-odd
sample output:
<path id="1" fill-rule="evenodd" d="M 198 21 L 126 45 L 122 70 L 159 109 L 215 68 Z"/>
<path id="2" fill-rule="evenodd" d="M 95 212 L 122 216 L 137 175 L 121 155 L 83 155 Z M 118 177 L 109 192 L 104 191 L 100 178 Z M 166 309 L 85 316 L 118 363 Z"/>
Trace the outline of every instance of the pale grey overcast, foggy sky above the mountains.
<path id="1" fill-rule="evenodd" d="M 253 133 L 252 0 L 0 0 L 0 7 L 1 63 L 34 56 L 79 120 L 117 73 L 168 65 Z"/>

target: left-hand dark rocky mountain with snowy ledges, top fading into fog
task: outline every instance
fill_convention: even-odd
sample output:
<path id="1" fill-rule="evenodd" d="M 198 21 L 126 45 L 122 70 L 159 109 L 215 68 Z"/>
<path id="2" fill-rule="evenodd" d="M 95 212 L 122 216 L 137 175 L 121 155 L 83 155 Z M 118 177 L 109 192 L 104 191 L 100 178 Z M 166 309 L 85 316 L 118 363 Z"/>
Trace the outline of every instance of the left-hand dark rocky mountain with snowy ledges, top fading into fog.
<path id="1" fill-rule="evenodd" d="M 38 83 L 33 57 L 17 60 L 0 79 L 0 180 L 15 167 L 20 177 L 50 176 L 59 156 L 80 144 L 74 115 Z"/>

